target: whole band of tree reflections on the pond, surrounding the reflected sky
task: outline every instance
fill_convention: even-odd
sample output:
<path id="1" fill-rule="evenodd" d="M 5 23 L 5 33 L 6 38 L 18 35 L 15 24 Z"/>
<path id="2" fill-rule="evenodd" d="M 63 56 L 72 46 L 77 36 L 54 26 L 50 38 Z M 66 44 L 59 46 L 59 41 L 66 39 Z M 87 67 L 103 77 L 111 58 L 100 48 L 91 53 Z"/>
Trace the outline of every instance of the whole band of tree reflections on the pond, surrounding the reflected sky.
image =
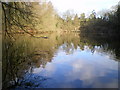
<path id="1" fill-rule="evenodd" d="M 41 39 L 18 35 L 16 36 L 18 39 L 15 42 L 10 39 L 4 40 L 3 87 L 11 85 L 38 86 L 38 84 L 32 82 L 34 77 L 36 78 L 34 81 L 45 80 L 45 78 L 32 74 L 33 69 L 36 67 L 45 68 L 47 62 L 51 62 L 60 47 L 67 54 L 72 54 L 78 47 L 84 50 L 85 46 L 88 46 L 91 52 L 94 53 L 99 47 L 100 52 L 109 52 L 111 55 L 115 55 L 116 59 L 120 59 L 119 42 L 112 42 L 113 40 L 110 38 L 82 37 L 78 33 L 62 33 L 58 35 L 52 33 L 46 36 L 49 38 Z"/>

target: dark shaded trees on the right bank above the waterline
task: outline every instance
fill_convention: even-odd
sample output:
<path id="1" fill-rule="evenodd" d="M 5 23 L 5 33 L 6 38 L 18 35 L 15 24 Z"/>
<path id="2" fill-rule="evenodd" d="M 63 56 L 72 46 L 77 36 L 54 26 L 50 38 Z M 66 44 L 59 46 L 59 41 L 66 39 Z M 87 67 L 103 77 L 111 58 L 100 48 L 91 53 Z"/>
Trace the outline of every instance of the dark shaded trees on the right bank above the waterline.
<path id="1" fill-rule="evenodd" d="M 106 36 L 120 35 L 120 5 L 111 12 L 106 12 L 103 16 L 96 17 L 95 11 L 92 11 L 86 21 L 80 23 L 81 33 L 101 34 Z"/>

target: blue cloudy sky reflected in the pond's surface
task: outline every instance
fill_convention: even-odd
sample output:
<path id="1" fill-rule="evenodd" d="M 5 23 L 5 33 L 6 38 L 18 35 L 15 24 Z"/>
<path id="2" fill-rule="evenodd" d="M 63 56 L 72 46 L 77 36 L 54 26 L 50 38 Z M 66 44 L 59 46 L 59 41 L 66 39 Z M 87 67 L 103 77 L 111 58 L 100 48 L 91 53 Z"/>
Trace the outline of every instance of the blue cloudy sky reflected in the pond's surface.
<path id="1" fill-rule="evenodd" d="M 87 47 L 86 47 L 87 48 Z M 81 51 L 79 47 L 71 54 L 66 54 L 64 46 L 59 47 L 52 62 L 45 68 L 35 68 L 34 75 L 48 77 L 43 87 L 118 87 L 118 62 L 108 55 L 89 49 Z"/>

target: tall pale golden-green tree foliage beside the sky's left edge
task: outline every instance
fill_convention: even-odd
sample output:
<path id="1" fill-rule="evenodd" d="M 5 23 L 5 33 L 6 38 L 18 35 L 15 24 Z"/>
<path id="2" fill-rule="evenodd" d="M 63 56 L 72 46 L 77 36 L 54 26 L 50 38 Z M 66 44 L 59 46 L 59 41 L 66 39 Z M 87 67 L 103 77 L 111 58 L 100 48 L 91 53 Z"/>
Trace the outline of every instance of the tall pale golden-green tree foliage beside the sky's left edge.
<path id="1" fill-rule="evenodd" d="M 51 2 L 33 2 L 33 12 L 38 17 L 35 23 L 36 30 L 52 31 L 56 28 L 55 10 Z"/>

